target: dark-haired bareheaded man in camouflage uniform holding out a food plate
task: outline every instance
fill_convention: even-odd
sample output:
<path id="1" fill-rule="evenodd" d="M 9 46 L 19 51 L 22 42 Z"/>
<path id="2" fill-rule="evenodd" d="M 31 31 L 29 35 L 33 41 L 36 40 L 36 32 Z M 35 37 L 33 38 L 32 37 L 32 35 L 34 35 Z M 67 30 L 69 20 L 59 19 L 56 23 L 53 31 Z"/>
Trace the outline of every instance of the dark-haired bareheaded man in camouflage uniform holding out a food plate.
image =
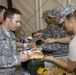
<path id="1" fill-rule="evenodd" d="M 15 8 L 5 11 L 4 21 L 0 25 L 0 75 L 15 75 L 15 66 L 29 59 L 27 54 L 17 51 L 12 32 L 20 26 L 20 21 L 20 11 Z"/>

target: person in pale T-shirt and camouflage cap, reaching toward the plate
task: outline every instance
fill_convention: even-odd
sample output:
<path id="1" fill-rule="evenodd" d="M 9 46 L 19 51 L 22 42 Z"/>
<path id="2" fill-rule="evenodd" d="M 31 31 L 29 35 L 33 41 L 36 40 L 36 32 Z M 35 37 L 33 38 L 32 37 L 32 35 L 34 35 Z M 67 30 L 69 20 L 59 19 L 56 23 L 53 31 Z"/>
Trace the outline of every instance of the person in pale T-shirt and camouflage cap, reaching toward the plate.
<path id="1" fill-rule="evenodd" d="M 66 69 L 74 71 L 76 68 L 76 6 L 73 4 L 68 5 L 67 8 L 64 9 L 64 12 L 66 13 L 64 27 L 74 34 L 74 37 L 69 43 L 68 59 L 67 61 L 63 61 L 53 56 L 46 56 L 44 59 L 50 60 Z"/>

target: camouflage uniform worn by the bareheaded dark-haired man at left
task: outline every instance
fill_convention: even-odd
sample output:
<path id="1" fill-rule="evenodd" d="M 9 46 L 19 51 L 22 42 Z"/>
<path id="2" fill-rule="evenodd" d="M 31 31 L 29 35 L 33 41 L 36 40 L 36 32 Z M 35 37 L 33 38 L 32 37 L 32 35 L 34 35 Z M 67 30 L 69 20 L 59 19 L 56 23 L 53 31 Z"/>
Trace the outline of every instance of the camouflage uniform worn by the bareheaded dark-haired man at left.
<path id="1" fill-rule="evenodd" d="M 0 25 L 0 75 L 14 75 L 14 66 L 19 64 L 15 36 L 10 32 L 8 37 Z"/>

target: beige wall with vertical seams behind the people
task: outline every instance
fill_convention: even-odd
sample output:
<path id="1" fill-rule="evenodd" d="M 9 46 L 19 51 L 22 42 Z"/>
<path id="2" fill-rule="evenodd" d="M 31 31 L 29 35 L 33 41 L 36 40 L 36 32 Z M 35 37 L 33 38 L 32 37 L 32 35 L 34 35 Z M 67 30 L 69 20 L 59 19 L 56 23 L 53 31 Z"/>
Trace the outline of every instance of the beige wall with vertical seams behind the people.
<path id="1" fill-rule="evenodd" d="M 45 10 L 52 10 L 54 7 L 65 8 L 76 0 L 12 0 L 12 6 L 22 13 L 21 27 L 16 30 L 19 38 L 26 33 L 44 29 L 46 23 L 41 19 Z M 0 5 L 7 7 L 7 0 L 0 0 Z"/>

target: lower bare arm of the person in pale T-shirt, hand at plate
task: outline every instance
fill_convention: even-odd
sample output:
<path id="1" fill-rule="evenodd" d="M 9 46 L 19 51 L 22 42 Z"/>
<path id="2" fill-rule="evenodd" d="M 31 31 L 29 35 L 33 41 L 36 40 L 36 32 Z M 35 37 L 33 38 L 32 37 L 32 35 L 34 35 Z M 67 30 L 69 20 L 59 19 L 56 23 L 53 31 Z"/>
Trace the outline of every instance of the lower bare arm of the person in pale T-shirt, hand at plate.
<path id="1" fill-rule="evenodd" d="M 53 57 L 53 56 L 45 56 L 44 60 L 52 61 L 52 62 L 66 68 L 66 69 L 69 69 L 70 71 L 73 71 L 74 68 L 75 68 L 75 65 L 76 65 L 75 62 L 73 62 L 73 61 L 71 61 L 69 59 L 67 61 L 63 61 L 63 60 L 61 60 L 61 59 L 59 59 L 57 57 Z"/>

